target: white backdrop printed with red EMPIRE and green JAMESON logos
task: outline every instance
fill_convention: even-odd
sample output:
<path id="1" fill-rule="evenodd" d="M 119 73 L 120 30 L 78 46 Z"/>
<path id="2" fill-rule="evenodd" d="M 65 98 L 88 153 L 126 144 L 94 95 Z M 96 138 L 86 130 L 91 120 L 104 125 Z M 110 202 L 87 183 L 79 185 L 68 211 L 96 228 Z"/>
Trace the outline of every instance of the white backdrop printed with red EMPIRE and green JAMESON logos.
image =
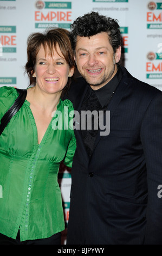
<path id="1" fill-rule="evenodd" d="M 123 39 L 122 65 L 139 80 L 162 90 L 162 0 L 0 0 L 0 87 L 27 88 L 24 75 L 27 38 L 49 26 L 70 29 L 90 11 L 118 19 Z M 59 184 L 68 223 L 70 169 L 61 166 Z M 66 232 L 63 233 L 66 241 Z"/>

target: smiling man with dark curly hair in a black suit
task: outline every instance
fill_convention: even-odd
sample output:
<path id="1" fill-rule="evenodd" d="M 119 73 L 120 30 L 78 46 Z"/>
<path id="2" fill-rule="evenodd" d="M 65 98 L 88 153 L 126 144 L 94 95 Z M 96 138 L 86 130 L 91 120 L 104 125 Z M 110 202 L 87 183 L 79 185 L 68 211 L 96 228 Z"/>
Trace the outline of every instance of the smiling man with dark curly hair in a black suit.
<path id="1" fill-rule="evenodd" d="M 68 98 L 80 115 L 103 111 L 110 130 L 75 129 L 67 244 L 162 244 L 162 92 L 119 65 L 115 20 L 85 14 L 71 35 L 82 77 Z"/>

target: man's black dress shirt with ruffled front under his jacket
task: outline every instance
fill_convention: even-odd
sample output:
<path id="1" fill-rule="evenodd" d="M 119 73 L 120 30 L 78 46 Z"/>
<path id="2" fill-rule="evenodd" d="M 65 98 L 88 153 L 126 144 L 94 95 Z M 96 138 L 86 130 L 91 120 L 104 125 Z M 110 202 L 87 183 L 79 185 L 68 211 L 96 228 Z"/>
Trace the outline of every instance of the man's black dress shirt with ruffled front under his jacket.
<path id="1" fill-rule="evenodd" d="M 81 111 L 106 111 L 108 107 L 108 103 L 111 101 L 113 94 L 115 93 L 115 89 L 118 86 L 122 77 L 122 71 L 119 69 L 116 72 L 115 76 L 109 81 L 105 86 L 101 87 L 98 90 L 93 90 L 90 86 L 86 92 L 86 95 L 83 99 L 81 108 L 80 108 L 80 129 L 81 129 L 81 122 L 82 122 L 82 114 Z M 98 121 L 99 124 L 99 121 Z M 99 129 L 99 126 L 98 126 Z M 87 129 L 87 119 L 86 119 L 86 127 L 85 129 L 81 129 L 81 135 L 83 138 L 83 142 L 85 144 L 87 153 L 89 157 L 92 155 L 96 135 L 98 133 L 98 129 L 94 126 L 94 117 L 92 115 L 92 129 Z"/>

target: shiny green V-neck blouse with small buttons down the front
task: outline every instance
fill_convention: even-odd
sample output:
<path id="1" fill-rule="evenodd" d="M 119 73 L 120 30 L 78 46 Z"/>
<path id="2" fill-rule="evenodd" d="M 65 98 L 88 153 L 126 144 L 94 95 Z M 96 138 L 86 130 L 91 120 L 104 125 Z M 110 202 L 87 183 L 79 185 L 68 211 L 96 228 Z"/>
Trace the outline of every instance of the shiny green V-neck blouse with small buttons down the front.
<path id="1" fill-rule="evenodd" d="M 0 88 L 0 120 L 17 96 L 14 87 Z M 63 113 L 65 106 L 73 113 L 69 100 L 60 100 L 57 111 Z M 19 228 L 21 241 L 47 238 L 64 229 L 57 174 L 62 160 L 72 167 L 76 140 L 73 129 L 56 129 L 58 116 L 54 114 L 38 144 L 35 119 L 25 100 L 0 136 L 0 233 L 12 239 Z M 59 118 L 64 124 L 64 115 Z"/>

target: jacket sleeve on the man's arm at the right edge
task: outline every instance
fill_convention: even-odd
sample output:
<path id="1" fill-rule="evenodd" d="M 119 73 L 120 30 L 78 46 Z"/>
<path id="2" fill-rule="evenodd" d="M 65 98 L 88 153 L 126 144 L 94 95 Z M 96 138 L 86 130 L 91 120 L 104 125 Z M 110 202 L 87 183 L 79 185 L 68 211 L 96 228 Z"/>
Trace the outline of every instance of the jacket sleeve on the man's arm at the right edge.
<path id="1" fill-rule="evenodd" d="M 147 108 L 141 125 L 141 142 L 147 169 L 148 204 L 145 244 L 162 245 L 162 93 Z M 162 193 L 161 193 L 162 194 Z"/>

